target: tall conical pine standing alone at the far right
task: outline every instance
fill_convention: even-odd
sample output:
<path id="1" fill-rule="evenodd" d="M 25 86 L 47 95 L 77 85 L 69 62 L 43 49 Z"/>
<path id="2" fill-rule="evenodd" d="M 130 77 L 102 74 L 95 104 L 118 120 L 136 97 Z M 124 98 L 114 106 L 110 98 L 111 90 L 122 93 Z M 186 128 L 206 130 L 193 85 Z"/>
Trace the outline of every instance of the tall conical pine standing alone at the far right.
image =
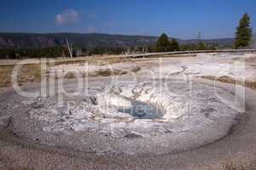
<path id="1" fill-rule="evenodd" d="M 235 48 L 244 48 L 250 44 L 253 36 L 252 27 L 250 24 L 251 21 L 249 14 L 243 14 L 239 22 L 239 26 L 236 28 Z"/>

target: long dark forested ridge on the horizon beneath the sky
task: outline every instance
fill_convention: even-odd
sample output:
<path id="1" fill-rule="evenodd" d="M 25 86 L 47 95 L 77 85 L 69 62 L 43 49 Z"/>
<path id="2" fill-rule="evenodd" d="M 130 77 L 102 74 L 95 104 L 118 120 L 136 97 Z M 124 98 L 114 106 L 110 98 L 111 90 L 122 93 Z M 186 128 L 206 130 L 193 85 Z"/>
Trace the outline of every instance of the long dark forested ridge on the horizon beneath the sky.
<path id="1" fill-rule="evenodd" d="M 158 37 L 125 36 L 109 34 L 81 34 L 81 33 L 0 33 L 0 48 L 49 48 L 66 44 L 66 39 L 81 48 L 95 47 L 134 47 L 153 45 Z M 182 44 L 196 43 L 198 40 L 180 40 Z M 233 38 L 203 40 L 207 43 L 218 43 L 231 46 Z"/>

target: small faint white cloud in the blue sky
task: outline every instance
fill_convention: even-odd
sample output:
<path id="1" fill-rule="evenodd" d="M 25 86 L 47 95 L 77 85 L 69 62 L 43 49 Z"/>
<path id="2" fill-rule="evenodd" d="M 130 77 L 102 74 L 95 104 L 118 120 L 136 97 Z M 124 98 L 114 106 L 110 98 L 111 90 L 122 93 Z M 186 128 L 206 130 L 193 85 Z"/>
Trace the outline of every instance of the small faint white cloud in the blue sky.
<path id="1" fill-rule="evenodd" d="M 68 9 L 61 14 L 56 14 L 55 21 L 59 25 L 77 22 L 79 21 L 79 12 L 75 9 Z"/>

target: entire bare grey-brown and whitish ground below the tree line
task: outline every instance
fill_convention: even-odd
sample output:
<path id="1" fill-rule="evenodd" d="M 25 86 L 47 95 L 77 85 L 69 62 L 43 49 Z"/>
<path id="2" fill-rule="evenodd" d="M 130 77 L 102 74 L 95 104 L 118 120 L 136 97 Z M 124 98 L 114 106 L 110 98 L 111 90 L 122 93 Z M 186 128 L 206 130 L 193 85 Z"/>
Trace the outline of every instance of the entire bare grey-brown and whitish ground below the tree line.
<path id="1" fill-rule="evenodd" d="M 105 74 L 106 64 L 115 74 Z M 81 72 L 81 65 L 84 60 L 47 65 L 45 75 L 38 65 L 25 65 L 19 82 L 26 92 L 35 92 L 40 77 L 51 71 Z M 84 107 L 68 112 L 56 105 L 58 92 L 28 98 L 7 88 L 14 65 L 0 67 L 5 87 L 0 97 L 0 169 L 219 169 L 231 162 L 253 167 L 256 54 L 90 60 L 89 65 L 96 72 L 85 77 L 89 95 L 64 97 L 83 101 Z M 135 66 L 139 69 L 133 71 Z M 71 93 L 78 85 L 73 77 L 63 83 Z M 243 93 L 236 94 L 243 86 L 245 105 Z M 189 99 L 190 112 L 185 110 Z M 150 114 L 131 114 L 137 102 L 157 107 Z M 106 107 L 108 113 L 102 110 Z M 160 115 L 155 115 L 158 109 Z"/>

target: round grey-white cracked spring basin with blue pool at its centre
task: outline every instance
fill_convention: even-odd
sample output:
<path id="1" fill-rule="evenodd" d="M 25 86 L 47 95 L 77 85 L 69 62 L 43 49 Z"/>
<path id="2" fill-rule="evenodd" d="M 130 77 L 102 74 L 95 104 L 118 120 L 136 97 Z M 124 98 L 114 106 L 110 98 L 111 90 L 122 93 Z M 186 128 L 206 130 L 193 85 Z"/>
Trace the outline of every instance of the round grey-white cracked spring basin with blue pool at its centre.
<path id="1" fill-rule="evenodd" d="M 65 96 L 61 105 L 58 93 L 38 98 L 6 95 L 0 124 L 11 117 L 12 131 L 38 144 L 98 155 L 143 155 L 212 143 L 227 135 L 242 115 L 223 102 L 234 99 L 229 89 L 208 83 L 169 79 L 108 86 L 96 80 L 86 94 Z M 69 83 L 67 91 L 74 87 Z"/>

